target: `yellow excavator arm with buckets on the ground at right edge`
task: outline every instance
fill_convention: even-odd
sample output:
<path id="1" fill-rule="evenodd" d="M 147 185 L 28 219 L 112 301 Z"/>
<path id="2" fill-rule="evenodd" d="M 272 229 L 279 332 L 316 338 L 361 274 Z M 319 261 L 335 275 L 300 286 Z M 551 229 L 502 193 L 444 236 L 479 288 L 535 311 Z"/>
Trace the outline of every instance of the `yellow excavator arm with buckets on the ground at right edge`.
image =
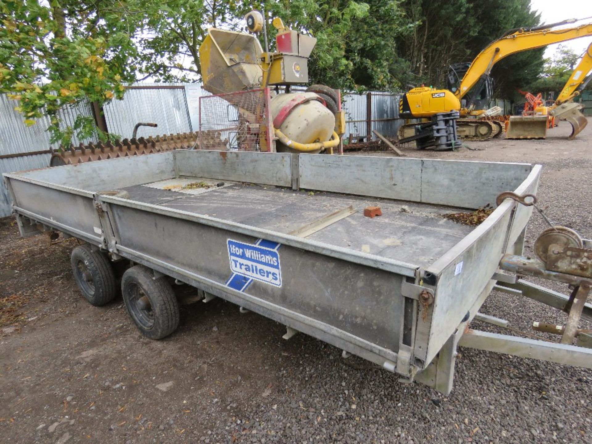
<path id="1" fill-rule="evenodd" d="M 549 122 L 552 124 L 555 119 L 561 119 L 571 124 L 572 130 L 568 139 L 573 140 L 588 124 L 587 118 L 581 112 L 584 105 L 574 102 L 574 98 L 581 94 L 590 79 L 592 79 L 592 43 L 550 107 L 540 105 L 535 107 L 532 115 L 510 117 L 506 132 L 507 139 L 544 139 L 547 128 L 551 127 Z"/>

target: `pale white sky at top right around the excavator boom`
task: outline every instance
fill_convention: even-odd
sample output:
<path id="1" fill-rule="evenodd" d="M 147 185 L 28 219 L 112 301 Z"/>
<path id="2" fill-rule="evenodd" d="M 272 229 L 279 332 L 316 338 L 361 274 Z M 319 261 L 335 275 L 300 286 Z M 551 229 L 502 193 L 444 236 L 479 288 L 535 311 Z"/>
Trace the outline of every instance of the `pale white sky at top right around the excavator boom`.
<path id="1" fill-rule="evenodd" d="M 530 0 L 530 7 L 540 12 L 540 21 L 545 24 L 556 23 L 568 18 L 587 18 L 570 26 L 592 23 L 591 0 Z M 588 45 L 592 43 L 592 37 L 575 38 L 563 43 L 552 44 L 545 50 L 545 57 L 551 57 L 559 44 L 570 47 L 576 54 L 583 54 Z"/>

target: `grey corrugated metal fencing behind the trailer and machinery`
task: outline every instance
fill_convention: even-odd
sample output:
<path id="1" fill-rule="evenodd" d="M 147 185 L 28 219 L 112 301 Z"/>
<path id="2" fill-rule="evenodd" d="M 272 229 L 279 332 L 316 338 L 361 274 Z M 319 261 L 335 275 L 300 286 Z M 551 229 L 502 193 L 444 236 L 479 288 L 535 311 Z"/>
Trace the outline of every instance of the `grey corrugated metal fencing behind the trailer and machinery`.
<path id="1" fill-rule="evenodd" d="M 293 91 L 297 91 L 294 88 Z M 156 123 L 157 128 L 141 127 L 138 136 L 188 133 L 199 130 L 199 98 L 209 95 L 197 83 L 137 83 L 128 86 L 123 100 L 114 100 L 103 108 L 104 122 L 99 122 L 112 134 L 130 138 L 136 123 Z M 372 130 L 384 136 L 395 136 L 401 124 L 398 120 L 397 94 L 369 92 L 343 95 L 346 115 L 345 141 L 353 136 L 368 135 L 376 140 Z M 17 102 L 0 95 L 0 174 L 49 165 L 49 118 L 26 127 L 21 115 L 14 110 Z M 60 115 L 65 125 L 72 125 L 76 115 L 93 116 L 91 104 L 81 104 L 64 110 Z M 105 127 L 106 124 L 106 127 Z M 96 140 L 73 140 L 74 144 Z M 27 156 L 14 156 L 31 153 Z M 0 184 L 0 217 L 10 214 L 10 198 L 4 183 Z"/>

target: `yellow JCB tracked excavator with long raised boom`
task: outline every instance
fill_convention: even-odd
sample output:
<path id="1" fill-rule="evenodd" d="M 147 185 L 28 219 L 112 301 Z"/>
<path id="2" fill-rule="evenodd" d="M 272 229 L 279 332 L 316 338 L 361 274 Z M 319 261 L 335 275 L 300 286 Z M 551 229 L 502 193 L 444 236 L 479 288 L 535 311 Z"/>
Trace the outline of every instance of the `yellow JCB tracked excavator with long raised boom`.
<path id="1" fill-rule="evenodd" d="M 422 86 L 403 94 L 399 102 L 399 117 L 429 121 L 401 127 L 399 143 L 416 141 L 419 149 L 434 147 L 436 150 L 450 150 L 460 146 L 459 136 L 488 138 L 501 134 L 501 124 L 478 120 L 488 114 L 488 110 L 483 109 L 478 102 L 488 102 L 491 98 L 490 73 L 493 66 L 510 54 L 592 36 L 591 23 L 558 28 L 577 21 L 570 19 L 507 31 L 475 57 L 459 82 L 449 80 L 450 89 Z M 482 91 L 485 91 L 485 98 L 481 97 Z M 463 118 L 459 120 L 461 116 Z"/>

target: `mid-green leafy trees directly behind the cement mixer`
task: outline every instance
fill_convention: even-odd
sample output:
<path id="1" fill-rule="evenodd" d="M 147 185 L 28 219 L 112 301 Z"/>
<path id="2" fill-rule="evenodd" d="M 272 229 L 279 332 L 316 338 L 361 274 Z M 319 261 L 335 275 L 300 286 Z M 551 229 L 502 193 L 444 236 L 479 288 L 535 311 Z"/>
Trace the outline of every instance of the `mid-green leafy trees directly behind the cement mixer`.
<path id="1" fill-rule="evenodd" d="M 198 51 L 207 36 L 207 29 L 242 30 L 244 14 L 257 9 L 266 15 L 270 50 L 275 49 L 277 33 L 271 26 L 271 20 L 280 17 L 288 27 L 317 38 L 309 64 L 311 79 L 335 88 L 356 87 L 352 71 L 356 63 L 363 61 L 352 60 L 346 54 L 350 48 L 348 36 L 352 34 L 356 22 L 368 17 L 369 6 L 366 3 L 352 0 L 137 0 L 134 9 L 138 14 L 144 14 L 140 37 L 143 52 L 139 62 L 146 76 L 165 81 L 200 79 Z M 263 37 L 259 37 L 263 43 Z"/>

